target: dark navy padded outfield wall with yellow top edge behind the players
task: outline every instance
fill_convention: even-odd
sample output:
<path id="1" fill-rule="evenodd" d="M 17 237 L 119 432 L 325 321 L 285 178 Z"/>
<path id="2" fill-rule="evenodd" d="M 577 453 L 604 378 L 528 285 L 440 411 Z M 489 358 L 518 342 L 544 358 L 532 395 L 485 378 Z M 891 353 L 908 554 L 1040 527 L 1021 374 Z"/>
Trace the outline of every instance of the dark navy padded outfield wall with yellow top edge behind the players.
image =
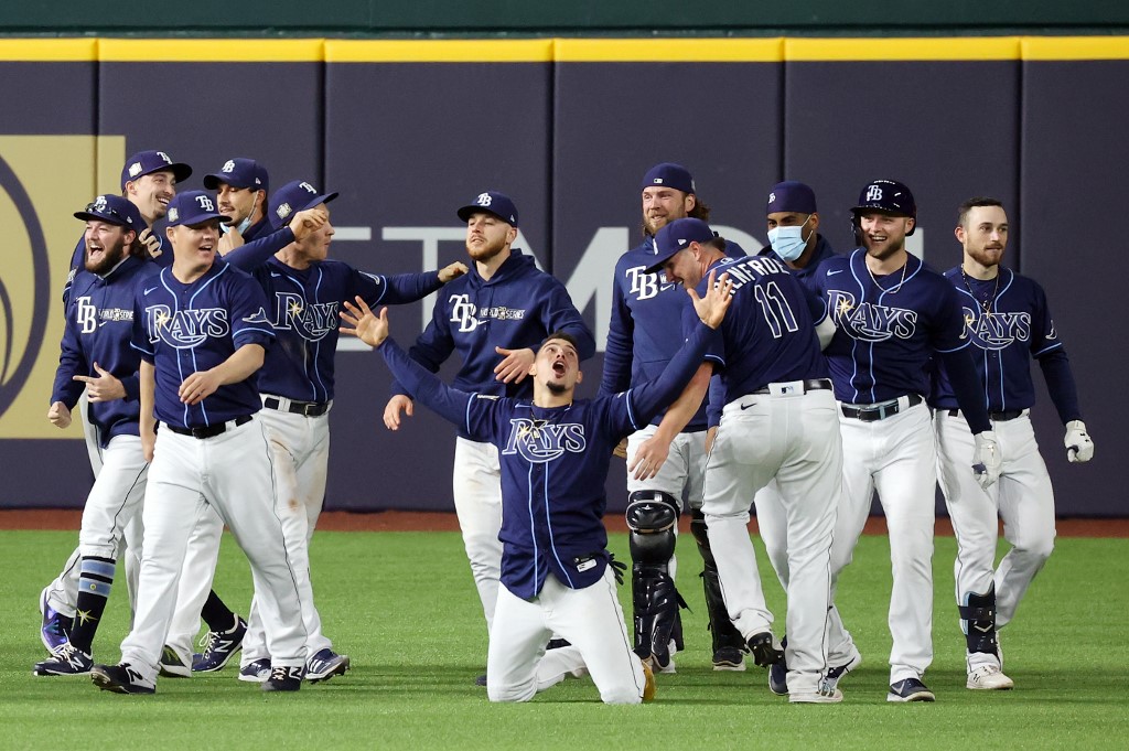
<path id="1" fill-rule="evenodd" d="M 1113 363 L 1127 337 L 1101 311 L 1118 299 L 1129 199 L 1127 61 L 1129 37 L 0 40 L 0 506 L 85 499 L 78 430 L 45 419 L 81 230 L 71 212 L 117 190 L 128 154 L 156 148 L 193 165 L 186 187 L 250 156 L 274 185 L 340 191 L 333 254 L 383 273 L 464 257 L 454 208 L 502 190 L 520 246 L 568 283 L 601 348 L 612 268 L 638 242 L 639 178 L 656 161 L 688 165 L 714 224 L 746 248 L 764 242 L 778 180 L 815 187 L 840 250 L 858 189 L 901 180 L 920 204 L 912 250 L 939 269 L 960 260 L 955 207 L 996 195 L 1008 261 L 1048 290 L 1097 444 L 1094 462 L 1067 464 L 1040 385 L 1059 513 L 1123 515 L 1129 409 Z M 410 341 L 429 311 L 393 309 L 394 335 Z M 338 369 L 326 506 L 449 509 L 452 430 L 421 410 L 388 433 L 378 358 L 345 350 Z M 586 370 L 590 393 L 598 356 Z M 613 508 L 622 487 L 616 463 Z"/>

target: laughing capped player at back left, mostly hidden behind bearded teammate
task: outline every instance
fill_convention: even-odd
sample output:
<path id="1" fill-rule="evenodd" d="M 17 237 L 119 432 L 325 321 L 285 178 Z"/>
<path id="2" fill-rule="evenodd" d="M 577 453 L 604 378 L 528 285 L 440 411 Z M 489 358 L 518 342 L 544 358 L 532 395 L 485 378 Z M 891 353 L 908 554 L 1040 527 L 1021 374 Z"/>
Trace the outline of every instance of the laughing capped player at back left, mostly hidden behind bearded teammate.
<path id="1" fill-rule="evenodd" d="M 155 221 L 165 217 L 166 206 L 176 194 L 176 183 L 187 180 L 191 174 L 192 167 L 173 161 L 165 151 L 139 151 L 126 159 L 122 167 L 122 195 L 137 208 L 145 220 L 143 226 L 137 230 L 138 243 L 146 248 L 150 257 L 164 265 L 173 262 L 172 254 L 164 252 L 165 246 L 159 235 L 155 235 L 150 227 Z M 75 252 L 71 254 L 70 274 L 63 285 L 64 307 L 70 300 L 70 288 L 75 276 L 85 267 L 85 259 L 86 236 L 84 235 L 75 245 Z M 102 469 L 102 447 L 96 426 L 87 419 L 89 408 L 85 393 L 79 396 L 78 405 L 78 411 L 82 416 L 84 438 L 86 439 L 87 454 L 90 457 L 90 466 L 97 475 Z M 137 574 L 140 568 L 140 558 L 135 551 L 141 549 L 141 530 L 133 524 L 128 524 L 122 541 L 124 550 L 119 552 L 125 561 L 126 590 L 132 610 L 137 590 Z M 117 557 L 114 558 L 116 560 Z M 81 551 L 76 548 L 75 552 L 67 559 L 59 576 L 40 593 L 40 614 L 42 615 L 40 638 L 47 652 L 53 652 L 67 640 L 67 635 L 73 622 L 81 569 L 80 560 Z"/>

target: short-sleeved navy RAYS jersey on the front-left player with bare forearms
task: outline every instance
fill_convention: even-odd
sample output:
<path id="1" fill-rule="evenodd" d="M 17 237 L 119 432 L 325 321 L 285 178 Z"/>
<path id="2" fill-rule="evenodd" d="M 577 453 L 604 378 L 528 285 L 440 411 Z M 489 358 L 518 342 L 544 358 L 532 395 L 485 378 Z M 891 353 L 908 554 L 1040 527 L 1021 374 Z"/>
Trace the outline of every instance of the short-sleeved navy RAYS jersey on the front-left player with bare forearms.
<path id="1" fill-rule="evenodd" d="M 269 348 L 274 331 L 265 307 L 262 287 L 229 263 L 213 263 L 190 285 L 161 269 L 138 290 L 131 343 L 157 369 L 157 419 L 199 428 L 260 410 L 253 377 L 220 386 L 195 405 L 182 403 L 177 391 L 190 375 L 220 365 L 244 344 Z"/>

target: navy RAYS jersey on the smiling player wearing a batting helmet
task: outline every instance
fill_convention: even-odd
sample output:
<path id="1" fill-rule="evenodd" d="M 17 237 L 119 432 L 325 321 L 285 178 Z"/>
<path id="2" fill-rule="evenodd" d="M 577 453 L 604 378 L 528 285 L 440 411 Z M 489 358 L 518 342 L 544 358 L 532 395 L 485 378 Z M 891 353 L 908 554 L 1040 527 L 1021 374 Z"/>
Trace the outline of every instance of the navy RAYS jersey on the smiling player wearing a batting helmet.
<path id="1" fill-rule="evenodd" d="M 931 355 L 968 346 L 956 290 L 912 254 L 902 271 L 876 282 L 866 251 L 856 248 L 821 263 L 814 281 L 835 323 L 824 355 L 841 402 L 925 396 Z"/>

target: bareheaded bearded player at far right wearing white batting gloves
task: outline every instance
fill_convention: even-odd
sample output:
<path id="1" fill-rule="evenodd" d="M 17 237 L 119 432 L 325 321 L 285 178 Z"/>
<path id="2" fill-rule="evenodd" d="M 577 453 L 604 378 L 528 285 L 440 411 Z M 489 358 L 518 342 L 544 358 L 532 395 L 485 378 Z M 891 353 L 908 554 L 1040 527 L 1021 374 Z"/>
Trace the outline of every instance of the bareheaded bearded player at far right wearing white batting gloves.
<path id="1" fill-rule="evenodd" d="M 961 265 L 945 277 L 964 312 L 964 332 L 980 374 L 981 401 L 1004 453 L 999 482 L 987 491 L 964 472 L 972 446 L 943 365 L 936 372 L 938 479 L 956 533 L 956 605 L 968 646 L 970 689 L 1010 689 L 1003 672 L 996 629 L 1007 625 L 1032 579 L 1054 547 L 1054 495 L 1031 427 L 1035 402 L 1031 358 L 1039 361 L 1047 390 L 1066 426 L 1067 459 L 1088 462 L 1094 444 L 1078 408 L 1078 394 L 1066 350 L 1054 329 L 1047 296 L 1035 281 L 1000 265 L 1008 222 L 996 199 L 974 198 L 960 207 L 956 239 L 964 248 Z M 1012 550 L 996 560 L 997 514 Z"/>

